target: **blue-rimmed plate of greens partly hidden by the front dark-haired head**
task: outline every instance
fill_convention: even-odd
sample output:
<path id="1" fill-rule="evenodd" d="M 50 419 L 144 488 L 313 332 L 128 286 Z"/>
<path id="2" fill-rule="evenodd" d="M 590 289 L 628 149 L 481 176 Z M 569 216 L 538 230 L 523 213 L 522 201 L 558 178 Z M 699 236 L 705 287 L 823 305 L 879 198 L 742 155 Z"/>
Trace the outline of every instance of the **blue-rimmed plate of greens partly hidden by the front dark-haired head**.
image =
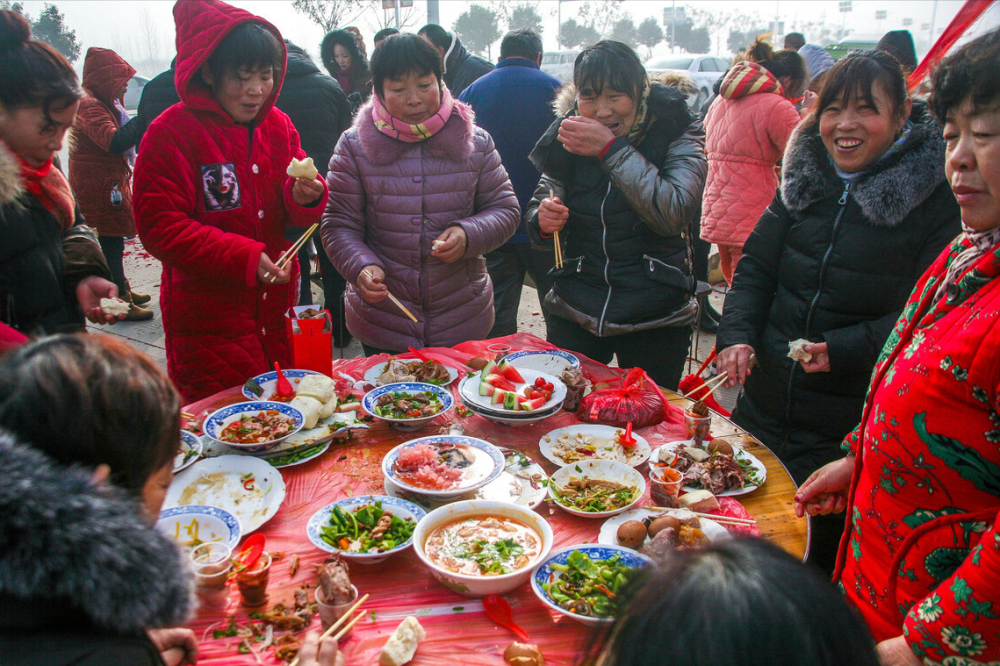
<path id="1" fill-rule="evenodd" d="M 653 560 L 622 546 L 581 544 L 553 552 L 531 572 L 531 589 L 554 611 L 588 626 L 614 622 L 615 599 Z"/>

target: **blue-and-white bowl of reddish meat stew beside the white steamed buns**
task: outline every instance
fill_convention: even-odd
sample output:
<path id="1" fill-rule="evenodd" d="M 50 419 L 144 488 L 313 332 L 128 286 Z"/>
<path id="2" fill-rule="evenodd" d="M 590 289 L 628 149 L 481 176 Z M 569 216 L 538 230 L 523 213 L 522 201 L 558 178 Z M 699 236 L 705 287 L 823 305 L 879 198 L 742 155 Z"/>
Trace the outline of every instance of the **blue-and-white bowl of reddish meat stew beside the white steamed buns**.
<path id="1" fill-rule="evenodd" d="M 260 453 L 302 429 L 305 416 L 284 402 L 254 400 L 229 405 L 205 419 L 205 434 L 244 453 Z"/>

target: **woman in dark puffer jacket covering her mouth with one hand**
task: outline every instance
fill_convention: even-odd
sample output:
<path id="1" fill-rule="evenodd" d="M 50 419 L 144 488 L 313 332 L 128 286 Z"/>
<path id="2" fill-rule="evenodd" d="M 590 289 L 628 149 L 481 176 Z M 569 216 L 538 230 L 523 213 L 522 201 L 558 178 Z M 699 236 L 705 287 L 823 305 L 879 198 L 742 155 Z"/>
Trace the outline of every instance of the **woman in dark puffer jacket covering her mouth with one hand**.
<path id="1" fill-rule="evenodd" d="M 552 344 L 674 388 L 697 314 L 690 223 L 708 162 L 684 96 L 650 84 L 612 41 L 577 56 L 573 105 L 531 154 L 542 171 L 525 214 L 536 245 L 561 230 L 564 266 L 545 297 Z M 569 105 L 568 105 L 569 106 Z"/>

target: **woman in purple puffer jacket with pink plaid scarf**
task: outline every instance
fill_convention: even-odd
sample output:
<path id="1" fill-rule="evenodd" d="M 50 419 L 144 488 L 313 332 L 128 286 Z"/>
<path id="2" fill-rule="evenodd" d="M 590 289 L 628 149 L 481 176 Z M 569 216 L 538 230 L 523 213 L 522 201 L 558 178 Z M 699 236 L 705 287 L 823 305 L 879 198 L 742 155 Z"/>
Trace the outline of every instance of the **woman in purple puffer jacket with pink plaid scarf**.
<path id="1" fill-rule="evenodd" d="M 330 160 L 323 215 L 323 244 L 348 282 L 347 328 L 369 356 L 481 339 L 493 326 L 483 255 L 521 218 L 510 179 L 427 42 L 393 35 L 372 71 L 375 95 Z"/>

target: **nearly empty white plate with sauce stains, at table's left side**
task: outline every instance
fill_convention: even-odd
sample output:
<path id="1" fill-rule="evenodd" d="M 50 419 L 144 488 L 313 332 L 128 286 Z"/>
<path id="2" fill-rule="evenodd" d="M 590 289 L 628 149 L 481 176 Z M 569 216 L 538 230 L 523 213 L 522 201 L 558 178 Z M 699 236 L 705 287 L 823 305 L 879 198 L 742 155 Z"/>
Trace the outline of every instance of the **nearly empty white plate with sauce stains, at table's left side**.
<path id="1" fill-rule="evenodd" d="M 252 489 L 244 488 L 253 478 Z M 269 521 L 285 499 L 281 472 L 252 456 L 220 456 L 199 460 L 174 477 L 164 508 L 204 504 L 236 516 L 244 534 Z"/>

